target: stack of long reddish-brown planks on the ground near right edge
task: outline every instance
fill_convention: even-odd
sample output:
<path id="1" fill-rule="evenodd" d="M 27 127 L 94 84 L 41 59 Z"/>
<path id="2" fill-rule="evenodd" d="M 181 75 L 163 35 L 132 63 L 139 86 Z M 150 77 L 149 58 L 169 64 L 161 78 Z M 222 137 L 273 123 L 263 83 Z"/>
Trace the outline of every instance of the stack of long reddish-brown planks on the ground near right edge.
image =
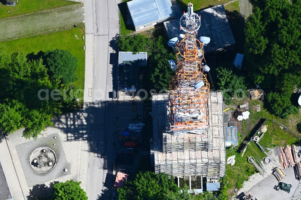
<path id="1" fill-rule="evenodd" d="M 279 147 L 280 154 L 278 155 L 279 162 L 282 168 L 287 168 L 289 166 L 294 166 L 297 162 L 297 156 L 295 153 L 295 145 L 292 144 L 290 147 L 287 145 L 286 147 Z"/>

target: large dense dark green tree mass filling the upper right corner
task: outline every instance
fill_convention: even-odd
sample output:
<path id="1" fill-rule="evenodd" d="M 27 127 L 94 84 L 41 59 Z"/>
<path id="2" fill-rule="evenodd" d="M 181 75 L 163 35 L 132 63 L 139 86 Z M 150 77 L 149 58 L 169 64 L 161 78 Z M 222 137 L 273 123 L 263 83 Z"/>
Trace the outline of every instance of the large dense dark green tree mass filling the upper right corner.
<path id="1" fill-rule="evenodd" d="M 274 114 L 296 113 L 290 98 L 301 86 L 301 1 L 251 0 L 253 14 L 245 28 L 245 56 L 250 77 L 265 89 Z"/>

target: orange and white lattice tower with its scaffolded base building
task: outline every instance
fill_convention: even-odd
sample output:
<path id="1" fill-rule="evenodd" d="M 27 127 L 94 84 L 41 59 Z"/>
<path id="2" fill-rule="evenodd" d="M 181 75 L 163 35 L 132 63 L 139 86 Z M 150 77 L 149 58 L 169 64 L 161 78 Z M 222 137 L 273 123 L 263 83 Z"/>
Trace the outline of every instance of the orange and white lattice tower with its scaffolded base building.
<path id="1" fill-rule="evenodd" d="M 225 175 L 223 95 L 209 91 L 204 46 L 210 38 L 197 35 L 201 17 L 192 3 L 187 9 L 179 22 L 183 34 L 169 40 L 176 54 L 176 61 L 169 61 L 175 70 L 169 91 L 152 94 L 151 162 L 156 173 L 177 177 L 178 186 L 185 179 L 190 189 L 202 192 L 206 178 L 207 190 L 214 191 Z M 197 177 L 201 184 L 191 186 Z"/>

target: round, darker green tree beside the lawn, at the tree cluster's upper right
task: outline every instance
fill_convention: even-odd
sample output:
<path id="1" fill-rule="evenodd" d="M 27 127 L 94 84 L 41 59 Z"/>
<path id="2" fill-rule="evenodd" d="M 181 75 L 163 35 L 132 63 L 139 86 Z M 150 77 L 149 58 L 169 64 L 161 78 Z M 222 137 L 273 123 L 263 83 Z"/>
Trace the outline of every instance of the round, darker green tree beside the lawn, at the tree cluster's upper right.
<path id="1" fill-rule="evenodd" d="M 48 50 L 43 56 L 44 64 L 49 69 L 51 79 L 60 79 L 68 85 L 77 80 L 75 70 L 78 59 L 66 50 Z"/>

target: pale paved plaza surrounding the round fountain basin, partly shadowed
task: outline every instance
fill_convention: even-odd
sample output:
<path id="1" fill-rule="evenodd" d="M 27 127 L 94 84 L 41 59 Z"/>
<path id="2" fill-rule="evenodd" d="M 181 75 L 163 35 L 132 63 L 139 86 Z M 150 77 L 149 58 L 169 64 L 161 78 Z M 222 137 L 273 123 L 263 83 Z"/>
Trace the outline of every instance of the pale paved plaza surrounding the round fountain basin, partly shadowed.
<path id="1" fill-rule="evenodd" d="M 23 138 L 23 129 L 8 135 L 6 140 L 1 139 L 2 168 L 14 199 L 47 196 L 49 193 L 43 187 L 49 188 L 56 181 L 83 180 L 82 187 L 85 188 L 88 147 L 82 140 L 88 138 L 86 130 L 89 129 L 85 116 L 87 113 L 77 112 L 54 119 L 54 126 L 48 127 L 42 132 L 44 137 L 40 136 L 36 141 Z M 39 174 L 30 166 L 29 156 L 37 147 L 49 147 L 56 153 L 56 166 L 48 173 Z"/>

